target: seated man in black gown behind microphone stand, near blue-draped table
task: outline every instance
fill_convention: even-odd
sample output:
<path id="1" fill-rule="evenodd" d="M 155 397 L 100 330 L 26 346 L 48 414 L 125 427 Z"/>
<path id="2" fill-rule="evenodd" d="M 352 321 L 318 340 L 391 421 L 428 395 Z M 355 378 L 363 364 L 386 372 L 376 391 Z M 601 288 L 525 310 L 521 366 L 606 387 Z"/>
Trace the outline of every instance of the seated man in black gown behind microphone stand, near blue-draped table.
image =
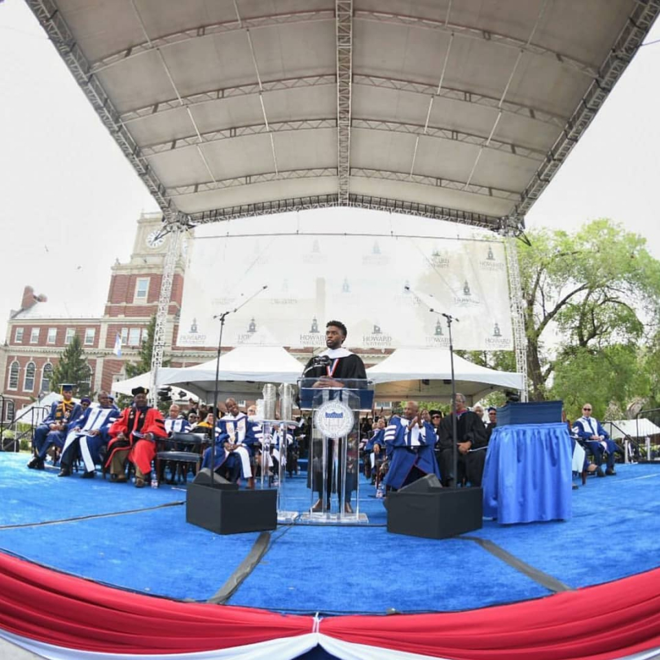
<path id="1" fill-rule="evenodd" d="M 456 438 L 454 438 L 452 423 L 454 414 L 456 415 Z M 463 483 L 465 479 L 472 486 L 481 486 L 488 443 L 486 428 L 476 412 L 467 410 L 465 397 L 459 393 L 456 393 L 456 412 L 444 417 L 440 424 L 438 463 L 444 486 L 450 485 L 452 481 L 454 443 L 458 450 L 458 461 L 456 461 L 456 471 L 459 473 L 458 483 Z"/>

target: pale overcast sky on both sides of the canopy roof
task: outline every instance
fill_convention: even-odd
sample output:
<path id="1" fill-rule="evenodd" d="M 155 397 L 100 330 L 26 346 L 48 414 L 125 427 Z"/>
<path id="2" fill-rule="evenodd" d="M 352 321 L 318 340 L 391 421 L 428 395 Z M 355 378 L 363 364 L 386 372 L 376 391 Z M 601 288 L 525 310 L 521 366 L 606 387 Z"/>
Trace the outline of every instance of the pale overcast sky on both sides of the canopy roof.
<path id="1" fill-rule="evenodd" d="M 660 23 L 646 41 L 660 40 Z M 98 315 L 135 219 L 157 206 L 23 0 L 0 2 L 0 320 L 25 285 L 65 314 Z M 660 43 L 642 47 L 528 228 L 610 217 L 660 258 Z"/>

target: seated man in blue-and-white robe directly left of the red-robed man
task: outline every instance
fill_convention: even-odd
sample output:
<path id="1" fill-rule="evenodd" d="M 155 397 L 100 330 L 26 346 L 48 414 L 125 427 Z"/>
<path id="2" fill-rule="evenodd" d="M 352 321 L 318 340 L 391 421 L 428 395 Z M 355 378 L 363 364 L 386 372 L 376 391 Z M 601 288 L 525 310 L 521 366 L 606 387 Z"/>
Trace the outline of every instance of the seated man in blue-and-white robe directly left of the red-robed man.
<path id="1" fill-rule="evenodd" d="M 61 470 L 57 476 L 69 476 L 78 455 L 85 465 L 82 474 L 85 479 L 93 478 L 96 474 L 96 463 L 103 462 L 102 448 L 107 447 L 110 441 L 108 430 L 118 419 L 120 410 L 110 403 L 107 392 L 98 393 L 98 403 L 97 408 L 88 406 L 83 417 L 69 424 L 69 428 L 73 428 L 67 433 L 60 460 Z"/>

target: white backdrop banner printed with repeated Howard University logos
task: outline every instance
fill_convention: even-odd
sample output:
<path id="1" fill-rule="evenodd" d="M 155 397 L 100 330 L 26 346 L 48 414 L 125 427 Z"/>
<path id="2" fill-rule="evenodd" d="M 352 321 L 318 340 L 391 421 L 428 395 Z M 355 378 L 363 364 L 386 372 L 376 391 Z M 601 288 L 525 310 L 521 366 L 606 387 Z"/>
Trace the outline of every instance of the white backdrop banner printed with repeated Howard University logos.
<path id="1" fill-rule="evenodd" d="M 225 346 L 322 347 L 326 322 L 338 319 L 347 347 L 445 347 L 445 312 L 459 320 L 456 349 L 512 350 L 504 250 L 499 241 L 410 236 L 200 237 L 188 246 L 177 343 L 217 346 L 213 316 L 267 286 L 227 316 Z"/>

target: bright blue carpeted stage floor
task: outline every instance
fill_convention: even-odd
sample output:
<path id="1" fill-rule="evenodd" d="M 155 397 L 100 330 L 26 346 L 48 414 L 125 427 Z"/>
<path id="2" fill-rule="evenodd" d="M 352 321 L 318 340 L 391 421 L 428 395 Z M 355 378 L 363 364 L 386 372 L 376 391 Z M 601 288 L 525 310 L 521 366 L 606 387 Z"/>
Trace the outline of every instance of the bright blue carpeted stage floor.
<path id="1" fill-rule="evenodd" d="M 366 481 L 364 527 L 280 525 L 219 536 L 186 523 L 186 489 L 28 470 L 0 453 L 0 551 L 102 584 L 287 613 L 469 610 L 617 580 L 660 564 L 660 465 L 620 465 L 573 491 L 573 518 L 499 525 L 446 540 L 386 531 Z M 305 474 L 287 482 L 309 502 Z M 261 537 L 261 538 L 260 538 Z M 255 544 L 261 560 L 241 575 Z M 230 586 L 232 585 L 232 588 Z"/>

